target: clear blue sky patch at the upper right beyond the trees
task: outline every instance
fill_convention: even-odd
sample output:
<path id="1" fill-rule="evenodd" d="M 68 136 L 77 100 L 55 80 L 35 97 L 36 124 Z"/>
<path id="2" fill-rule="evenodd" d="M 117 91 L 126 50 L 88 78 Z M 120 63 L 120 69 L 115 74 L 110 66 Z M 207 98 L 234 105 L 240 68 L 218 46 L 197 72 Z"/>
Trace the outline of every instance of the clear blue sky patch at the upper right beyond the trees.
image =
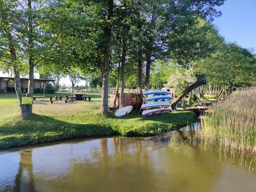
<path id="1" fill-rule="evenodd" d="M 256 53 L 256 0 L 227 0 L 217 10 L 222 16 L 213 24 L 226 43 L 236 42 L 246 49 L 254 48 Z"/>

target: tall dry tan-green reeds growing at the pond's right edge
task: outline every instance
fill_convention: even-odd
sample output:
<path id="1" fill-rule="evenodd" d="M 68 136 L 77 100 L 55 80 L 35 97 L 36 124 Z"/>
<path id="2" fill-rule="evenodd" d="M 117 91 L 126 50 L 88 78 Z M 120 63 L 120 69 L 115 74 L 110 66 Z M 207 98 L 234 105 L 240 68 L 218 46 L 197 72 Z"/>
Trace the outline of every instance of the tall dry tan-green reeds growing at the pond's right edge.
<path id="1" fill-rule="evenodd" d="M 238 90 L 213 106 L 202 121 L 202 145 L 256 154 L 256 87 Z"/>

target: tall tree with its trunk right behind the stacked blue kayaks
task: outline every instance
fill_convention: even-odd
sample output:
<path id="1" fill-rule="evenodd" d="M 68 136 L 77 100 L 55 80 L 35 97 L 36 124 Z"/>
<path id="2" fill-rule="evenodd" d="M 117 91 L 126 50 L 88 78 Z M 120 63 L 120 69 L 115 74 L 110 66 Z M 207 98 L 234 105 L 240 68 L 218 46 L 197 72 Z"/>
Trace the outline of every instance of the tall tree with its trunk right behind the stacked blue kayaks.
<path id="1" fill-rule="evenodd" d="M 199 21 L 198 18 L 211 20 L 220 15 L 214 6 L 220 6 L 223 2 L 153 0 L 146 3 L 144 6 L 146 8 L 143 9 L 145 10 L 143 14 L 147 17 L 145 90 L 149 89 L 150 66 L 155 59 L 164 58 L 165 53 L 168 53 L 172 59 L 177 59 L 179 64 L 182 64 L 205 53 L 208 46 L 204 44 L 202 38 L 197 38 L 201 31 L 195 30 L 195 26 Z"/>

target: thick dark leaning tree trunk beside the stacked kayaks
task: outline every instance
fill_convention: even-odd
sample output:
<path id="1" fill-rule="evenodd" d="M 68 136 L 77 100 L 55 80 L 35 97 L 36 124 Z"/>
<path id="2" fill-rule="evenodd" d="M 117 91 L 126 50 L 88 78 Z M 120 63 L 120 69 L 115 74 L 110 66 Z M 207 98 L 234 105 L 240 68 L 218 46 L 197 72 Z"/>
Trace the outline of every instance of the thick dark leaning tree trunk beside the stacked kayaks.
<path id="1" fill-rule="evenodd" d="M 186 90 L 184 90 L 177 98 L 175 98 L 171 103 L 172 109 L 177 109 L 177 105 L 180 102 L 180 100 L 185 97 L 190 91 L 196 89 L 197 87 L 201 85 L 205 85 L 207 83 L 205 79 L 205 74 L 197 75 L 196 74 L 196 82 L 192 85 L 190 85 Z"/>

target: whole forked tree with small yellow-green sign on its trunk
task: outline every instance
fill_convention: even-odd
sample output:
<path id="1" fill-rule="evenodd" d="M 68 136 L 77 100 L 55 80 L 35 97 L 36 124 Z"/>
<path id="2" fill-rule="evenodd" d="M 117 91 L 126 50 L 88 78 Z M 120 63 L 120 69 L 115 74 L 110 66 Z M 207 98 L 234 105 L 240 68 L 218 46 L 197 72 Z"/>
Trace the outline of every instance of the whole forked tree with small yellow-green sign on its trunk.
<path id="1" fill-rule="evenodd" d="M 45 45 L 44 42 L 51 42 L 49 38 L 52 40 L 54 37 L 44 31 L 47 19 L 50 18 L 50 13 L 45 12 L 49 5 L 49 1 L 0 2 L 0 61 L 3 66 L 9 66 L 13 70 L 21 117 L 32 113 L 32 105 L 21 105 L 20 74 L 28 72 L 27 97 L 33 97 L 34 67 L 42 63 L 47 55 L 50 45 Z"/>

